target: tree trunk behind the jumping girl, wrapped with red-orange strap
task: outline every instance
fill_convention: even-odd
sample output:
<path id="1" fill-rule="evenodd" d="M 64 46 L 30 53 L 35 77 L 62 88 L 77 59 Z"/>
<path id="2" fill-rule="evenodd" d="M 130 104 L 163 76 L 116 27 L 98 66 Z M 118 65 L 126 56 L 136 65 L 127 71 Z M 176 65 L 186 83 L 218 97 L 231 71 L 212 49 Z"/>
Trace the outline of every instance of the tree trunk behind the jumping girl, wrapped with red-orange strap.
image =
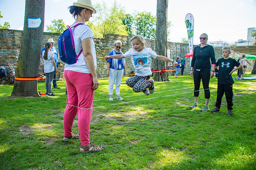
<path id="1" fill-rule="evenodd" d="M 168 0 L 157 0 L 156 5 L 156 53 L 161 56 L 167 55 L 167 8 Z M 167 62 L 155 59 L 153 70 L 167 69 Z M 169 81 L 168 73 L 153 73 L 153 79 L 157 82 Z"/>

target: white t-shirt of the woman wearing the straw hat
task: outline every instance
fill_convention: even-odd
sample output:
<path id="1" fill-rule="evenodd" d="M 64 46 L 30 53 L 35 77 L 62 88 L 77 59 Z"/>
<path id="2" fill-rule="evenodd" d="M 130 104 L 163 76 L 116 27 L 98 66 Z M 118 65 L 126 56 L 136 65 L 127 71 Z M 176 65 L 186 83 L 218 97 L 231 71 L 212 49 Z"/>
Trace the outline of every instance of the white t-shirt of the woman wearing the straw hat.
<path id="1" fill-rule="evenodd" d="M 72 26 L 70 26 L 70 27 L 72 27 Z M 76 27 L 73 27 L 73 28 L 71 28 L 71 30 L 72 30 L 72 34 L 74 37 L 75 50 L 76 50 L 77 55 L 80 53 L 80 51 L 82 49 L 82 40 L 84 40 L 86 38 L 91 38 L 92 56 L 93 56 L 94 66 L 96 69 L 97 61 L 96 61 L 95 45 L 94 45 L 94 41 L 93 41 L 94 35 L 92 33 L 91 28 L 88 25 L 84 24 L 84 25 L 78 25 Z M 80 54 L 80 56 L 78 57 L 77 62 L 75 64 L 65 64 L 64 70 L 70 70 L 70 71 L 90 74 L 89 68 L 84 59 L 83 52 Z"/>

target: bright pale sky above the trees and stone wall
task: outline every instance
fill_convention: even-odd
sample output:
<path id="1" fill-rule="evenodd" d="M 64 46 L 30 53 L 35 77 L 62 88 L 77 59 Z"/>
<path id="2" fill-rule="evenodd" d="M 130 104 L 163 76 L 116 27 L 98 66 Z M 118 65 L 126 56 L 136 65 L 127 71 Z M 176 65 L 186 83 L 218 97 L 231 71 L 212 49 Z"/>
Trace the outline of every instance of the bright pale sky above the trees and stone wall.
<path id="1" fill-rule="evenodd" d="M 74 22 L 67 7 L 77 0 L 45 0 L 45 25 L 53 19 L 63 19 L 66 25 Z M 92 0 L 92 3 L 102 2 Z M 111 5 L 113 0 L 105 0 Z M 125 7 L 126 13 L 147 11 L 156 15 L 156 0 L 122 0 L 117 1 Z M 194 16 L 194 44 L 199 44 L 201 33 L 207 33 L 210 41 L 237 41 L 247 39 L 247 28 L 256 27 L 256 0 L 169 0 L 168 21 L 171 21 L 171 42 L 187 38 L 185 16 Z M 0 0 L 3 18 L 0 23 L 9 22 L 10 29 L 23 30 L 25 0 Z"/>

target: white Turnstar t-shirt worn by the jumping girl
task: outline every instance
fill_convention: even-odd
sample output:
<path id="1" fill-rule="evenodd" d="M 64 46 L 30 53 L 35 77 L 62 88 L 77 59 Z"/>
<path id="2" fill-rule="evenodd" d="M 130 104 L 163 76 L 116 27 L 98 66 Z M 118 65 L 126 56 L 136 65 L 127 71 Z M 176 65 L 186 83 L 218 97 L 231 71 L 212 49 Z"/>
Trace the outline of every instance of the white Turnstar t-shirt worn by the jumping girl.
<path id="1" fill-rule="evenodd" d="M 131 58 L 136 76 L 151 75 L 151 57 L 156 58 L 157 54 L 151 48 L 144 47 L 141 51 L 130 49 L 124 54 L 125 58 Z"/>

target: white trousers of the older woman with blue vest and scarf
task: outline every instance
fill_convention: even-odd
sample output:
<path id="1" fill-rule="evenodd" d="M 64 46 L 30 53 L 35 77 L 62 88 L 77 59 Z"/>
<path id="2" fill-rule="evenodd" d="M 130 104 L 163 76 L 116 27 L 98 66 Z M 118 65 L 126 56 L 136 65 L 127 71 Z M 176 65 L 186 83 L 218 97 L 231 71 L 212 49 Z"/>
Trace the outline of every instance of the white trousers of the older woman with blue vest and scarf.
<path id="1" fill-rule="evenodd" d="M 108 94 L 113 95 L 114 84 L 116 84 L 116 95 L 120 95 L 120 85 L 124 70 L 109 69 Z M 116 83 L 115 83 L 116 82 Z"/>

